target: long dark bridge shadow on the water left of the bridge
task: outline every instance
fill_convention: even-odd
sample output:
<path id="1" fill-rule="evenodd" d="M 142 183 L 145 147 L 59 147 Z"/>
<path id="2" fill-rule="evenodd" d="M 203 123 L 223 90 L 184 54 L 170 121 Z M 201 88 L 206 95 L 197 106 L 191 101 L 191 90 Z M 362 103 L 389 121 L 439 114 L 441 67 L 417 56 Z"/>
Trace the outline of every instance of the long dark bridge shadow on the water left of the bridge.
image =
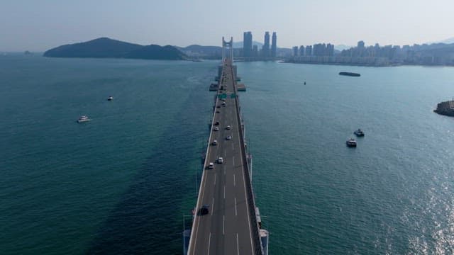
<path id="1" fill-rule="evenodd" d="M 87 254 L 182 254 L 181 205 L 187 194 L 194 192 L 195 173 L 187 171 L 189 159 L 199 156 L 194 141 L 207 132 L 185 128 L 206 126 L 201 123 L 206 123 L 209 109 L 203 100 L 194 100 L 199 92 L 194 90 L 175 114 L 155 152 L 100 227 Z M 194 203 L 195 199 L 194 194 Z"/>

